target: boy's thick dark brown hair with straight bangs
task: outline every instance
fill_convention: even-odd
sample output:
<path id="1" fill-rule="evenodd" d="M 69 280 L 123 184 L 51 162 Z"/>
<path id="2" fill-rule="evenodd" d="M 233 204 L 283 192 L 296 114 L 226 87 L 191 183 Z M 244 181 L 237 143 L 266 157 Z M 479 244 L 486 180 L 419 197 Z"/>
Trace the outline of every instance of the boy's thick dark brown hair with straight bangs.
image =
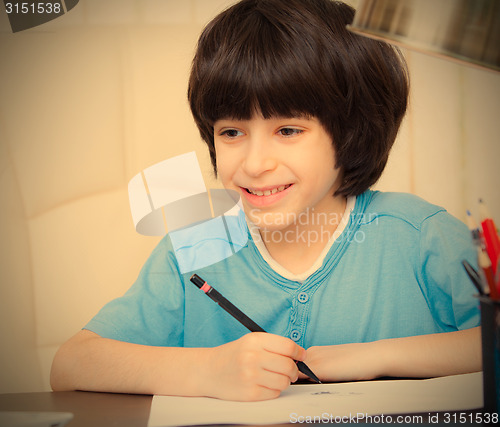
<path id="1" fill-rule="evenodd" d="M 387 163 L 409 92 L 398 49 L 351 33 L 354 9 L 332 0 L 243 0 L 198 41 L 188 99 L 215 173 L 222 118 L 316 117 L 332 137 L 343 182 L 358 195 Z"/>

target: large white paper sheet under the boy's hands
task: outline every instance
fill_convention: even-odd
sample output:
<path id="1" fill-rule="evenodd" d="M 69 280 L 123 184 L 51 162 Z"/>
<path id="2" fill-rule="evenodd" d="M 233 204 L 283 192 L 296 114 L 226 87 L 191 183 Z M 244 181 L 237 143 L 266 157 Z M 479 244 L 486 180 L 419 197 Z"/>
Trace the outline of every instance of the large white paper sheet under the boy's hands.
<path id="1" fill-rule="evenodd" d="M 482 373 L 428 380 L 365 381 L 292 385 L 263 402 L 229 402 L 205 397 L 154 396 L 148 427 L 198 424 L 279 424 L 370 421 L 368 415 L 461 411 L 483 406 Z M 395 422 L 396 416 L 393 417 Z M 337 420 L 338 421 L 338 420 Z M 424 422 L 428 420 L 424 419 Z"/>

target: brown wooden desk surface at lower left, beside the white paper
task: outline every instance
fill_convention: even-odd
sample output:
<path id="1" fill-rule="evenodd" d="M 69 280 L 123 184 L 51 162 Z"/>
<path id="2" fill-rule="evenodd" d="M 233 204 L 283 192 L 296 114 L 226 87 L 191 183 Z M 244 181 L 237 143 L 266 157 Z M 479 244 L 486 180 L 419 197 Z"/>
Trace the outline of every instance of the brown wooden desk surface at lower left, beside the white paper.
<path id="1" fill-rule="evenodd" d="M 85 391 L 12 393 L 0 394 L 0 411 L 71 412 L 74 418 L 67 427 L 147 427 L 151 400 L 152 396 Z M 479 412 L 472 410 L 458 414 Z M 445 421 L 444 414 L 437 414 L 440 422 Z M 422 415 L 424 424 L 428 424 L 429 413 Z M 272 427 L 291 425 L 274 424 Z"/>

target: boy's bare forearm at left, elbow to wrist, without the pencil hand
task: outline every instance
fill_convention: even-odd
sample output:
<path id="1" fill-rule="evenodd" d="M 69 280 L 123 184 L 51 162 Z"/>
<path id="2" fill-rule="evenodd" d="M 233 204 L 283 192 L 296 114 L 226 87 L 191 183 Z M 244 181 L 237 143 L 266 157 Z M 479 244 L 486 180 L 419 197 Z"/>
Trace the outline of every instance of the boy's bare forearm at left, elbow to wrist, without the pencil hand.
<path id="1" fill-rule="evenodd" d="M 149 347 L 80 331 L 56 354 L 51 386 L 55 391 L 199 395 L 200 376 L 194 371 L 204 350 Z"/>

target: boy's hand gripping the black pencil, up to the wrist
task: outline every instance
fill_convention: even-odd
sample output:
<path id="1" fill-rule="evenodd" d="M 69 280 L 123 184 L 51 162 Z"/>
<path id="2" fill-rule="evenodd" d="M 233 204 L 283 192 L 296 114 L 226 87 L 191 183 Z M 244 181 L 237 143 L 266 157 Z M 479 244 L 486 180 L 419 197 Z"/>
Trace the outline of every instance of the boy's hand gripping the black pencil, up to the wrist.
<path id="1" fill-rule="evenodd" d="M 253 332 L 208 351 L 203 363 L 204 394 L 220 399 L 255 401 L 273 399 L 299 371 L 295 360 L 304 360 L 305 350 L 278 335 Z"/>

